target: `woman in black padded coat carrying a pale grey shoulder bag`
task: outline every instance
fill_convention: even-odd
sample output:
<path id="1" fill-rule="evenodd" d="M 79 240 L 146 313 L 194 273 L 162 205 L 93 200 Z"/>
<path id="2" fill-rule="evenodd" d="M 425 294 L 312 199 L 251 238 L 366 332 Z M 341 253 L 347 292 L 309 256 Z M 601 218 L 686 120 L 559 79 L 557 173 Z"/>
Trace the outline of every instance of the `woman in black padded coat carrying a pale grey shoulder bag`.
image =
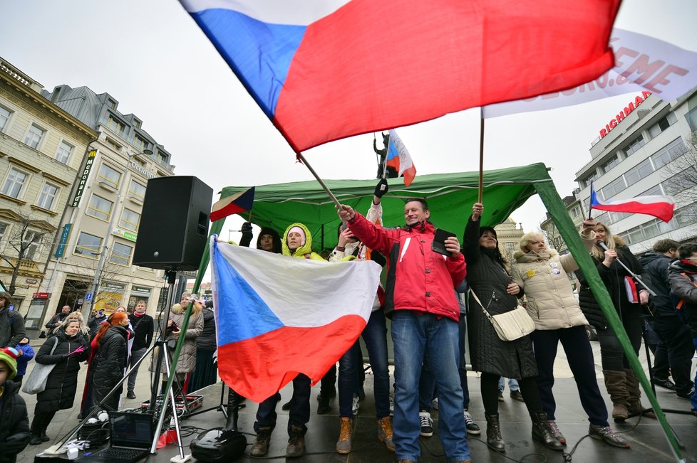
<path id="1" fill-rule="evenodd" d="M 46 428 L 58 410 L 73 407 L 78 388 L 80 362 L 90 354 L 90 343 L 82 333 L 78 319 L 68 319 L 58 326 L 56 335 L 46 340 L 36 354 L 36 363 L 55 364 L 46 380 L 46 389 L 36 395 L 36 407 L 31 421 L 31 445 L 48 442 Z M 56 349 L 51 353 L 53 346 Z"/>

